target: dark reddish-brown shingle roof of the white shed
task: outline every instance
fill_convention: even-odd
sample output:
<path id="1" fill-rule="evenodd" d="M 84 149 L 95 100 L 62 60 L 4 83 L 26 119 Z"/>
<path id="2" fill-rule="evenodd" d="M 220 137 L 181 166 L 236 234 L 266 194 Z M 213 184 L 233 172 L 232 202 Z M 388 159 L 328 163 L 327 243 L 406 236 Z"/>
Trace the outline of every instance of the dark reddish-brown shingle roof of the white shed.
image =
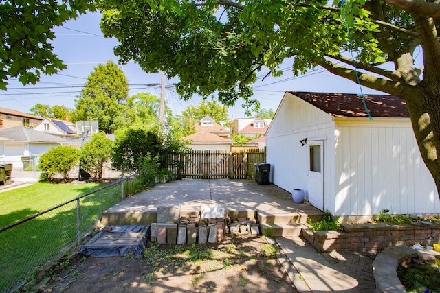
<path id="1" fill-rule="evenodd" d="M 368 117 L 362 97 L 350 93 L 309 93 L 289 91 L 292 95 L 335 117 Z M 393 95 L 365 95 L 371 117 L 410 117 L 404 99 Z"/>

